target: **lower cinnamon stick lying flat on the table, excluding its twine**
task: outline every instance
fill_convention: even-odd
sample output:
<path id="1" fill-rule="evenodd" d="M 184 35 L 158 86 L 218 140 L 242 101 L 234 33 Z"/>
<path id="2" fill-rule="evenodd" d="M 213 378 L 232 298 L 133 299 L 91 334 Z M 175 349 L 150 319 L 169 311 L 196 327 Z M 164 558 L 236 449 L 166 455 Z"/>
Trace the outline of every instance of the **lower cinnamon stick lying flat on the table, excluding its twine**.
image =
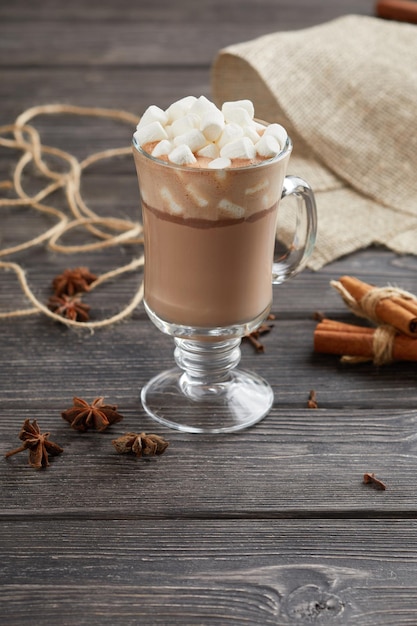
<path id="1" fill-rule="evenodd" d="M 372 360 L 375 357 L 374 339 L 377 330 L 323 320 L 314 331 L 314 350 Z M 417 361 L 417 341 L 405 335 L 395 335 L 390 360 Z"/>

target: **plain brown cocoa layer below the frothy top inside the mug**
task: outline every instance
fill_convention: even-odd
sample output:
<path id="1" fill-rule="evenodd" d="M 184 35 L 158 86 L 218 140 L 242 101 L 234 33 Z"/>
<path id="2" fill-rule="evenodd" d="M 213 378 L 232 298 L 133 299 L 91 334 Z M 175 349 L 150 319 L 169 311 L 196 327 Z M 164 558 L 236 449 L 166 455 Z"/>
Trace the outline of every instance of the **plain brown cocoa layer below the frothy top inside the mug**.
<path id="1" fill-rule="evenodd" d="M 253 220 L 167 219 L 144 205 L 145 299 L 186 326 L 244 324 L 267 313 L 276 207 Z"/>

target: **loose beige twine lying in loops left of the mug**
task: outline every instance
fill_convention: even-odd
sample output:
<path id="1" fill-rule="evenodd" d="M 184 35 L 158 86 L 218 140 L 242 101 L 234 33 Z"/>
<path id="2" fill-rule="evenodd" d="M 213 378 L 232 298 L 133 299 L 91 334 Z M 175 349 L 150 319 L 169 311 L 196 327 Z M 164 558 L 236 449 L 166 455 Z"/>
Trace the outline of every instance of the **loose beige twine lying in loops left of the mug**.
<path id="1" fill-rule="evenodd" d="M 63 104 L 47 104 L 29 108 L 17 117 L 14 124 L 1 126 L 0 145 L 5 148 L 21 150 L 22 156 L 14 168 L 13 180 L 0 181 L 0 190 L 12 189 L 16 193 L 17 198 L 0 198 L 0 208 L 29 207 L 40 213 L 51 215 L 57 219 L 57 223 L 42 232 L 37 237 L 30 238 L 23 243 L 12 247 L 3 249 L 0 248 L 0 258 L 10 256 L 24 250 L 29 250 L 40 244 L 46 244 L 49 249 L 55 252 L 71 254 L 91 250 L 100 250 L 120 244 L 127 245 L 143 243 L 142 225 L 139 222 L 131 222 L 127 219 L 115 217 L 100 217 L 87 206 L 80 192 L 82 173 L 87 167 L 89 167 L 92 163 L 96 163 L 97 161 L 103 159 L 130 155 L 130 146 L 96 152 L 80 162 L 69 152 L 43 144 L 41 142 L 39 132 L 34 126 L 28 124 L 30 120 L 33 120 L 39 115 L 54 114 L 109 118 L 131 124 L 133 127 L 135 127 L 139 121 L 138 116 L 122 110 L 103 109 L 97 107 L 79 107 Z M 7 138 L 7 135 L 10 134 L 13 135 L 13 138 Z M 53 155 L 55 158 L 63 161 L 69 167 L 69 170 L 65 173 L 52 170 L 43 158 L 43 156 L 47 154 Z M 22 184 L 22 177 L 25 168 L 31 162 L 33 162 L 38 172 L 41 173 L 42 176 L 48 181 L 43 189 L 32 196 L 26 193 Z M 62 189 L 65 193 L 69 216 L 64 211 L 61 211 L 56 207 L 44 204 L 45 199 L 58 189 Z M 76 246 L 63 245 L 62 243 L 59 243 L 59 240 L 65 233 L 78 227 L 88 230 L 98 239 L 98 241 Z M 113 234 L 109 234 L 109 232 L 106 232 L 103 228 L 106 228 Z M 90 285 L 89 291 L 95 289 L 104 282 L 115 278 L 116 276 L 143 267 L 143 264 L 144 257 L 141 255 L 139 258 L 133 259 L 127 265 L 102 274 Z M 12 270 L 16 274 L 23 293 L 33 305 L 32 308 L 2 312 L 0 313 L 0 319 L 43 313 L 55 321 L 67 326 L 77 326 L 93 330 L 95 328 L 109 326 L 110 324 L 124 319 L 136 308 L 143 298 L 143 283 L 141 281 L 131 301 L 116 315 L 93 322 L 77 322 L 53 313 L 47 306 L 36 298 L 27 282 L 25 271 L 20 264 L 11 261 L 0 261 L 0 269 Z"/>

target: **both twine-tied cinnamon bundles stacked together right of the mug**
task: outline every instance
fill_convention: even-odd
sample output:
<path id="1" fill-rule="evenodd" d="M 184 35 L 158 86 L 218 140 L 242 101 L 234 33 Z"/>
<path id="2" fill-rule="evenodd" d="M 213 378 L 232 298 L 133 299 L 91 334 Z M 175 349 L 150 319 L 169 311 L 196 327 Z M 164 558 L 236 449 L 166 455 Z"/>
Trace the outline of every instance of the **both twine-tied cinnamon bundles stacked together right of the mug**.
<path id="1" fill-rule="evenodd" d="M 417 361 L 417 298 L 395 287 L 372 287 L 343 276 L 330 283 L 349 309 L 376 328 L 322 319 L 314 332 L 314 350 L 342 355 L 342 362 Z"/>

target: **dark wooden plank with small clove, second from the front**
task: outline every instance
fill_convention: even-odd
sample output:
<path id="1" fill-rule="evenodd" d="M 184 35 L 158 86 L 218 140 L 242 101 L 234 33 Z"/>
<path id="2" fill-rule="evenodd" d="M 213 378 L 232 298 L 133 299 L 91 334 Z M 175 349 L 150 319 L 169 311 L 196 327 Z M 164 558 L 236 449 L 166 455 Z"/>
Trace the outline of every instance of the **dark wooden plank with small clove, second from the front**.
<path id="1" fill-rule="evenodd" d="M 111 367 L 107 363 L 106 370 Z M 86 389 L 103 374 L 99 366 L 91 369 L 84 368 Z M 139 384 L 143 364 L 140 371 Z M 39 394 L 39 386 L 29 390 Z M 89 391 L 82 397 L 95 395 Z M 307 395 L 299 390 L 300 406 L 305 407 Z M 26 452 L 1 461 L 1 518 L 345 519 L 363 518 L 371 511 L 382 517 L 417 514 L 415 410 L 277 406 L 240 434 L 187 435 L 147 418 L 138 388 L 129 388 L 126 381 L 106 394 L 108 402 L 118 404 L 124 421 L 104 433 L 78 433 L 60 416 L 71 404 L 68 396 L 52 405 L 45 389 L 44 408 L 31 408 L 27 398 L 20 406 L 2 409 L 2 455 L 19 445 L 17 435 L 26 417 L 37 419 L 64 452 L 44 471 L 29 467 Z M 33 404 L 40 400 L 35 395 Z M 173 416 L 180 417 L 175 407 Z M 118 455 L 111 441 L 129 431 L 157 432 L 170 447 L 149 460 Z M 365 472 L 375 472 L 386 491 L 363 484 Z"/>

